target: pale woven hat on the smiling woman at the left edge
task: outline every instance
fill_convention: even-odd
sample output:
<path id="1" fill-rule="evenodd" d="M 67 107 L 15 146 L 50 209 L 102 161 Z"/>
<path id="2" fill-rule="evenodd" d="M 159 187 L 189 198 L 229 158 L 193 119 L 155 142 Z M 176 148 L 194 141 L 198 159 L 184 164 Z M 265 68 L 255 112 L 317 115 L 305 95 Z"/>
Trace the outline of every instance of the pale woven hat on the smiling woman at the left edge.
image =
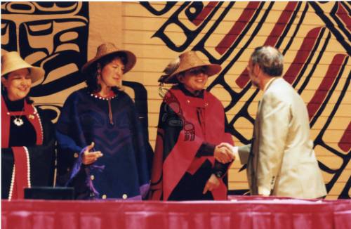
<path id="1" fill-rule="evenodd" d="M 1 55 L 1 77 L 4 77 L 6 74 L 13 72 L 15 70 L 20 70 L 22 68 L 30 68 L 30 77 L 32 83 L 38 81 L 45 75 L 44 69 L 41 67 L 34 67 L 29 65 L 20 57 L 18 52 L 8 52 L 4 55 Z"/>

